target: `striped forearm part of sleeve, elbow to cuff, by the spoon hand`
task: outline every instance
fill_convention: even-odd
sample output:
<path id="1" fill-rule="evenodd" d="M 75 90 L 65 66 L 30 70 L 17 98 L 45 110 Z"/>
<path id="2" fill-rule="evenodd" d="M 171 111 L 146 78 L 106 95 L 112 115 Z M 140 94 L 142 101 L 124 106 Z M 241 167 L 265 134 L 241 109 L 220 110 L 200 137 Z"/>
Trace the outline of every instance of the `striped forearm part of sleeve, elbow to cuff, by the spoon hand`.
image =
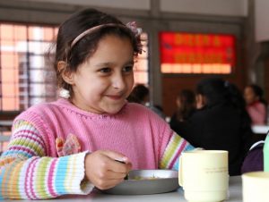
<path id="1" fill-rule="evenodd" d="M 86 154 L 59 158 L 35 156 L 5 164 L 0 173 L 0 198 L 44 199 L 89 194 L 94 186 L 83 181 Z"/>

